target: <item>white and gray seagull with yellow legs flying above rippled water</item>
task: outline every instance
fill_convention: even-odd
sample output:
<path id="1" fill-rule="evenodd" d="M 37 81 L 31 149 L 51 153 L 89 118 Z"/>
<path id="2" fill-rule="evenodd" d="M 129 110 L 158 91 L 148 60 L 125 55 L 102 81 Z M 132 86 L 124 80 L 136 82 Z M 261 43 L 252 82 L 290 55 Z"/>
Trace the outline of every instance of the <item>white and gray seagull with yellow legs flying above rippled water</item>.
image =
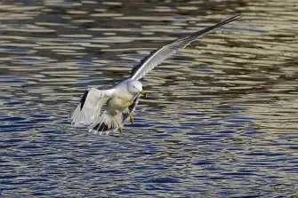
<path id="1" fill-rule="evenodd" d="M 91 88 L 85 91 L 79 104 L 70 114 L 70 122 L 75 125 L 89 125 L 90 132 L 109 134 L 110 131 L 123 133 L 123 125 L 129 118 L 133 124 L 133 111 L 141 96 L 147 98 L 140 79 L 176 51 L 185 48 L 198 38 L 205 36 L 215 28 L 241 18 L 241 15 L 223 20 L 216 25 L 182 36 L 165 46 L 152 51 L 139 65 L 133 67 L 131 75 L 112 89 L 98 90 Z M 105 108 L 105 110 L 101 110 Z M 103 111 L 103 112 L 102 112 Z M 101 113 L 102 112 L 102 113 Z"/>

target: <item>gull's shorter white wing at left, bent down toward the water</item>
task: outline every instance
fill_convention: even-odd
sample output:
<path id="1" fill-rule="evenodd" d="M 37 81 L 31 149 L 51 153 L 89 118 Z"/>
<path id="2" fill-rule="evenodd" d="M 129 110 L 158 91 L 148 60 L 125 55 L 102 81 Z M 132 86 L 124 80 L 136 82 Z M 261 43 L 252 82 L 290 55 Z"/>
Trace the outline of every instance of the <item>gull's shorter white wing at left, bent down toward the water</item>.
<path id="1" fill-rule="evenodd" d="M 70 122 L 75 125 L 90 124 L 101 115 L 101 107 L 113 97 L 115 89 L 85 91 L 77 108 L 70 115 Z"/>

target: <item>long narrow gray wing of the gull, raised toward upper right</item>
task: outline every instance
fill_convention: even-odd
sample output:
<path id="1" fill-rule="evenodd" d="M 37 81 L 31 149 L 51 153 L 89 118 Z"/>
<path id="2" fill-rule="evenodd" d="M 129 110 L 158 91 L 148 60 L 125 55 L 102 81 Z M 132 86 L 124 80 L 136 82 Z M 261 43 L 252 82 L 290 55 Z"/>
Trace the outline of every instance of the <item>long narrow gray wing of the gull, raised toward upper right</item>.
<path id="1" fill-rule="evenodd" d="M 231 17 L 228 20 L 223 20 L 214 26 L 211 26 L 209 28 L 205 28 L 197 32 L 194 32 L 190 35 L 181 37 L 170 44 L 166 44 L 165 46 L 158 48 L 156 51 L 152 51 L 148 57 L 141 60 L 141 63 L 139 65 L 133 67 L 132 75 L 130 76 L 130 78 L 133 80 L 141 79 L 144 75 L 149 73 L 149 71 L 151 71 L 154 67 L 157 67 L 157 65 L 160 64 L 162 61 L 173 56 L 173 54 L 176 51 L 180 50 L 181 48 L 185 48 L 187 45 L 194 42 L 197 38 L 205 36 L 205 34 L 209 33 L 214 28 L 219 28 L 227 23 L 230 23 L 231 21 L 238 20 L 240 18 L 241 18 L 241 15 L 238 14 L 234 17 Z"/>

